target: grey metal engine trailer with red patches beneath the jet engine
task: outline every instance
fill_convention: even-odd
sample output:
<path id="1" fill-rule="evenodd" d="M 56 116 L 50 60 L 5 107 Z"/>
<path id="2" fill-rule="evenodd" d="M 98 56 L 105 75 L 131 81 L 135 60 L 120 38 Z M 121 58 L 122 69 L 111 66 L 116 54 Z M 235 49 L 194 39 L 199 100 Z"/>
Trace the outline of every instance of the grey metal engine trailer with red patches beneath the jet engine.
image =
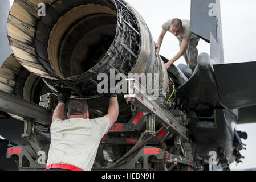
<path id="1" fill-rule="evenodd" d="M 161 92 L 155 98 L 137 80 L 127 79 L 127 83 L 128 94 L 124 98 L 131 101 L 133 117 L 128 122 L 115 123 L 101 139 L 99 147 L 101 156 L 104 153 L 101 150 L 103 146 L 123 146 L 126 152 L 104 165 L 96 159 L 92 170 L 202 169 L 202 166 L 193 162 L 185 113 L 166 109 L 167 98 L 161 96 Z M 40 142 L 40 136 L 50 137 L 51 115 L 57 102 L 56 95 L 52 93 L 41 96 L 40 104 L 36 105 L 0 90 L 0 110 L 5 113 L 1 114 L 1 120 L 15 121 L 22 118 L 24 121 L 21 137 L 29 144 L 11 146 L 6 155 L 7 158 L 15 159 L 20 171 L 46 168 L 47 147 Z M 133 133 L 140 133 L 140 137 L 133 137 Z M 165 140 L 170 138 L 173 139 L 173 145 L 168 147 Z"/>

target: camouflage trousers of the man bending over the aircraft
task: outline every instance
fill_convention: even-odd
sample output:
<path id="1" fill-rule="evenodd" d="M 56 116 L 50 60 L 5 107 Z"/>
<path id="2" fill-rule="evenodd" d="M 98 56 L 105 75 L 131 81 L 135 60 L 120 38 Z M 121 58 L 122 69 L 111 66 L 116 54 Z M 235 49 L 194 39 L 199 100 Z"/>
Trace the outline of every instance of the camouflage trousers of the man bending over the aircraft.
<path id="1" fill-rule="evenodd" d="M 180 46 L 182 39 L 178 39 L 180 41 Z M 200 40 L 200 37 L 197 35 L 192 35 L 192 39 L 190 39 L 188 47 L 185 50 L 185 53 L 183 54 L 183 57 L 186 60 L 186 64 L 189 65 L 189 68 L 194 70 L 197 66 L 197 56 L 198 56 L 198 50 L 197 50 L 197 45 Z"/>

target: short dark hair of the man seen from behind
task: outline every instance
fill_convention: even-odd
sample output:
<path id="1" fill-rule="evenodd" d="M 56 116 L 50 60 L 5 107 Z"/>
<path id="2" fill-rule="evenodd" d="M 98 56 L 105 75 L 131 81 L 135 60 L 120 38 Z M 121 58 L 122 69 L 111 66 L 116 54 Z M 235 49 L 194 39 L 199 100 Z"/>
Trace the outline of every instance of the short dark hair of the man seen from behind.
<path id="1" fill-rule="evenodd" d="M 79 115 L 84 114 L 88 110 L 88 104 L 84 100 L 71 100 L 68 102 L 68 114 Z"/>

